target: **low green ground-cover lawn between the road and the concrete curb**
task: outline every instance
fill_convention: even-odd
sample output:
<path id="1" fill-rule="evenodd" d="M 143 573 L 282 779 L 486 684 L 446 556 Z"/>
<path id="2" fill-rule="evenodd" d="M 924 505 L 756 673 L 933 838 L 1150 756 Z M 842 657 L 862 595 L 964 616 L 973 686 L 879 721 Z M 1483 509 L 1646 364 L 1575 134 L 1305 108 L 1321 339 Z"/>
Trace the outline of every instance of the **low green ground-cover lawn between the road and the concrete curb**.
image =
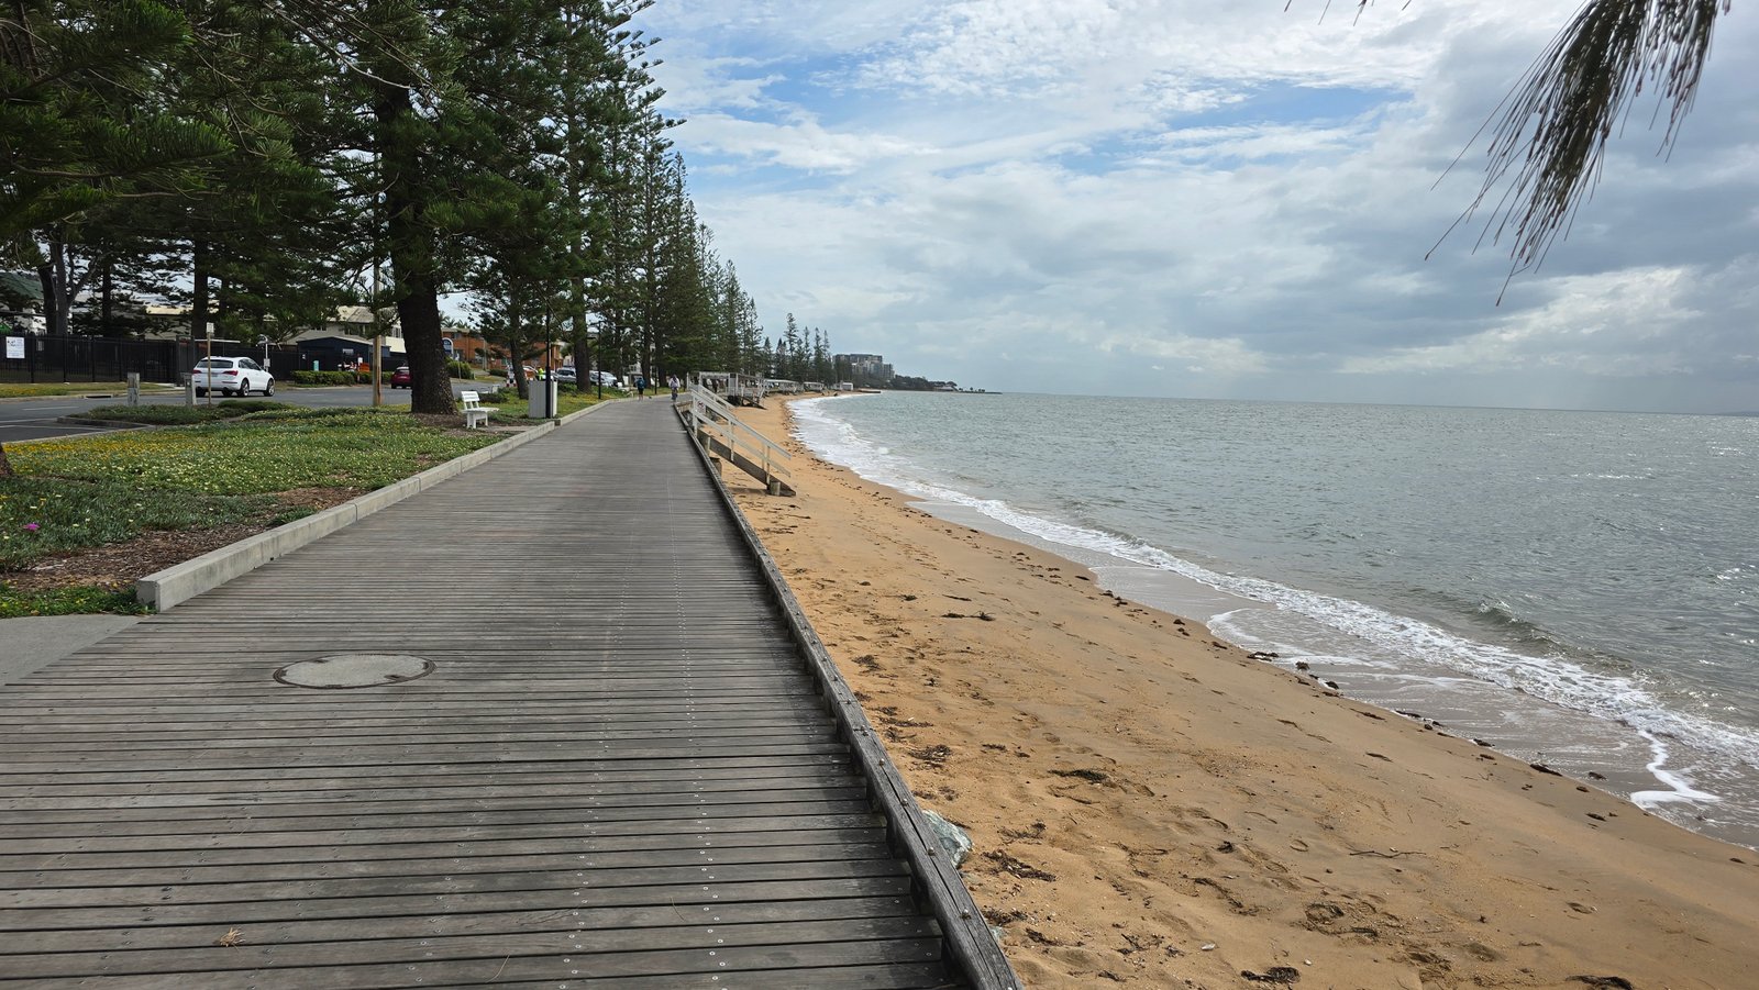
<path id="1" fill-rule="evenodd" d="M 128 608 L 132 596 L 116 593 L 150 573 L 97 587 L 76 580 L 46 586 L 46 571 L 33 570 L 46 563 L 77 577 L 83 554 L 109 552 L 109 570 L 97 568 L 102 573 L 130 561 L 141 566 L 153 554 L 185 550 L 186 559 L 213 549 L 201 543 L 202 531 L 213 531 L 223 545 L 239 528 L 276 526 L 501 438 L 434 426 L 401 410 L 303 410 L 278 403 L 220 403 L 213 410 L 109 406 L 93 415 L 222 413 L 229 419 L 9 445 L 16 475 L 0 478 L 0 617 Z M 183 536 L 190 538 L 179 543 Z M 130 554 L 134 545 L 151 545 L 151 552 Z M 99 547 L 104 550 L 93 550 Z"/>

